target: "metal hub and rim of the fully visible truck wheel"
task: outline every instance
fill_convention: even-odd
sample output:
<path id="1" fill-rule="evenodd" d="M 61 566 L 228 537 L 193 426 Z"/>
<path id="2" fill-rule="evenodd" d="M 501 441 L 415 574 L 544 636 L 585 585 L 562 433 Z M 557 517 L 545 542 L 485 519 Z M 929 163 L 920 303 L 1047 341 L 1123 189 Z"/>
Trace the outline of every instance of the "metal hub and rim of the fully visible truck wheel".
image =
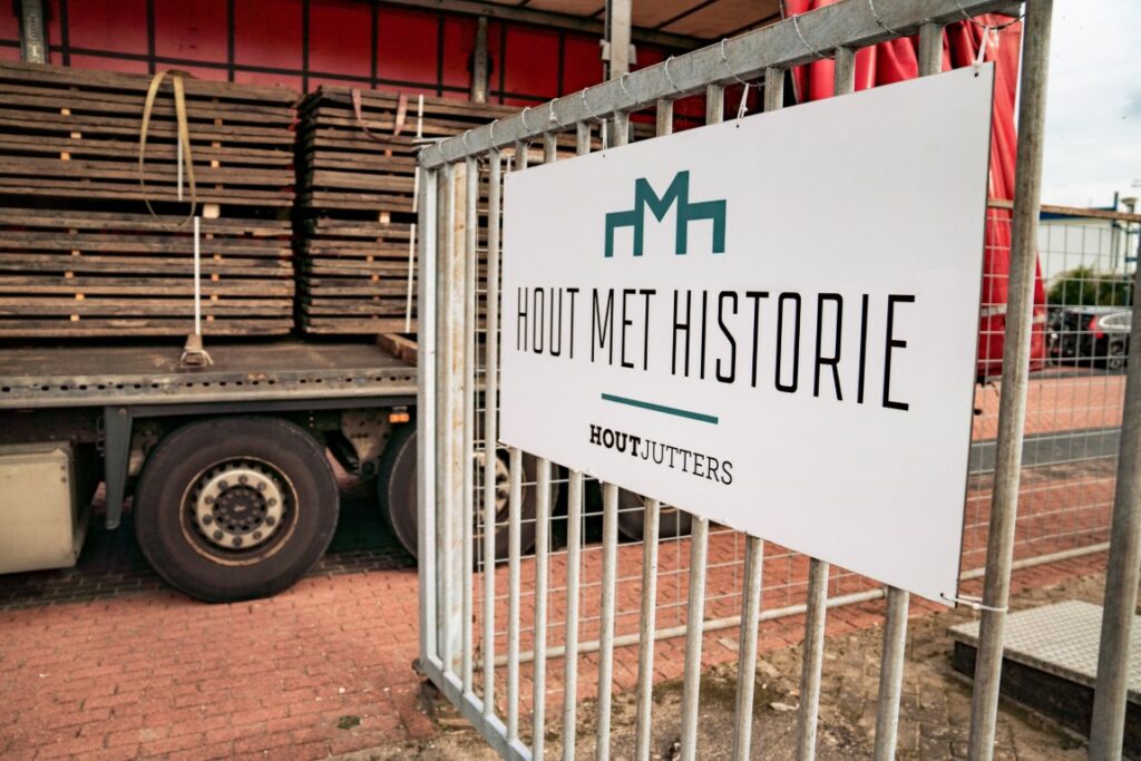
<path id="1" fill-rule="evenodd" d="M 272 475 L 246 463 L 227 463 L 200 480 L 194 518 L 211 543 L 244 550 L 268 541 L 281 528 L 284 500 Z"/>

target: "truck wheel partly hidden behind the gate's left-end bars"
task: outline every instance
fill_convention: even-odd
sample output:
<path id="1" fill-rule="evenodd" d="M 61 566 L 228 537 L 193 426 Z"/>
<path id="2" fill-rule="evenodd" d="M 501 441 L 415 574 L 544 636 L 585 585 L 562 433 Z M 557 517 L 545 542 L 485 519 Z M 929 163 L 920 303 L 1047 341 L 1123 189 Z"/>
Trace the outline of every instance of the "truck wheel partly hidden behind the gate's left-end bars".
<path id="1" fill-rule="evenodd" d="M 477 465 L 478 467 L 478 465 Z M 503 560 L 508 556 L 508 463 L 505 455 L 501 455 L 496 463 L 495 478 L 495 559 Z M 535 545 L 535 493 L 533 483 L 535 472 L 535 459 L 525 454 L 523 456 L 523 504 L 520 515 L 523 525 L 519 531 L 519 548 L 521 552 L 529 551 Z M 553 475 L 552 475 L 553 478 Z M 412 557 L 416 557 L 419 547 L 416 543 L 416 430 L 415 426 L 402 426 L 389 439 L 385 448 L 385 455 L 380 461 L 380 477 L 377 479 L 378 496 L 380 507 L 388 520 L 389 526 L 396 537 L 404 545 Z M 558 499 L 558 487 L 551 486 L 551 505 L 553 508 Z M 477 510 L 482 509 L 483 499 L 477 500 Z M 483 537 L 479 531 L 480 523 L 477 518 L 475 526 L 474 557 L 482 557 Z"/>

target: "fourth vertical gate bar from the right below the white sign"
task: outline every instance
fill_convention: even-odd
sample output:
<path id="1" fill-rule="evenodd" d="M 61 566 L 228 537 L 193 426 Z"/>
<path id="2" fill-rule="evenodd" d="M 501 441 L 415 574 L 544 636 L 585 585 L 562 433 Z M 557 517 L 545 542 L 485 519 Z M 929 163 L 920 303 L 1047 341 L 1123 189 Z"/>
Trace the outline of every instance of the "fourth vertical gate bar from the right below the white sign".
<path id="1" fill-rule="evenodd" d="M 705 122 L 717 124 L 725 114 L 725 88 L 705 88 Z M 697 756 L 697 707 L 702 687 L 702 634 L 705 623 L 705 572 L 710 521 L 693 517 L 689 535 L 689 607 L 686 614 L 686 663 L 681 683 L 681 761 Z"/>

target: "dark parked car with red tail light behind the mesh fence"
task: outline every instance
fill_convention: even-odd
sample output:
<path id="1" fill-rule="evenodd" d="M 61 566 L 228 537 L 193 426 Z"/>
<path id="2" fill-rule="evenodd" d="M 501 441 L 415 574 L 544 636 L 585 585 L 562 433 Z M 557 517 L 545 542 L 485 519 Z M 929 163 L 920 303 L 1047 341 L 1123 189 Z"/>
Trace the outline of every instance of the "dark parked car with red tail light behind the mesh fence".
<path id="1" fill-rule="evenodd" d="M 1051 315 L 1050 354 L 1059 364 L 1125 367 L 1133 313 L 1120 307 L 1069 307 Z"/>

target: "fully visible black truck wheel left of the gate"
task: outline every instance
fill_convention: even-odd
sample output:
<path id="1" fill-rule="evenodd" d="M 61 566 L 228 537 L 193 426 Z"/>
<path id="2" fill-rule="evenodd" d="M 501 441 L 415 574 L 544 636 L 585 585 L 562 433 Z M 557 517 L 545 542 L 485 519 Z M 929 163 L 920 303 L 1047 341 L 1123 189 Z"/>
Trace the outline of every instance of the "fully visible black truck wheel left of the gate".
<path id="1" fill-rule="evenodd" d="M 135 505 L 135 532 L 154 569 L 210 602 L 292 585 L 324 554 L 339 510 L 324 448 L 276 418 L 179 428 L 148 458 Z"/>

